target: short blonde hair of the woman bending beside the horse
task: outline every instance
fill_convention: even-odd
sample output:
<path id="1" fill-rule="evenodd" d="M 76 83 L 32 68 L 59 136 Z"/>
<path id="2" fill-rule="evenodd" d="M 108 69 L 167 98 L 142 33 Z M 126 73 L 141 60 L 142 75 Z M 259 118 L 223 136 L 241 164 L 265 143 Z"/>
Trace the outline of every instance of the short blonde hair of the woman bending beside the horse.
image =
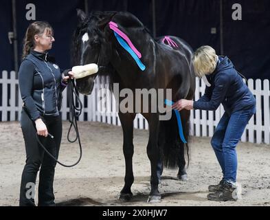
<path id="1" fill-rule="evenodd" d="M 216 69 L 216 51 L 210 46 L 199 47 L 192 58 L 194 72 L 196 76 L 203 77 L 212 74 Z"/>

